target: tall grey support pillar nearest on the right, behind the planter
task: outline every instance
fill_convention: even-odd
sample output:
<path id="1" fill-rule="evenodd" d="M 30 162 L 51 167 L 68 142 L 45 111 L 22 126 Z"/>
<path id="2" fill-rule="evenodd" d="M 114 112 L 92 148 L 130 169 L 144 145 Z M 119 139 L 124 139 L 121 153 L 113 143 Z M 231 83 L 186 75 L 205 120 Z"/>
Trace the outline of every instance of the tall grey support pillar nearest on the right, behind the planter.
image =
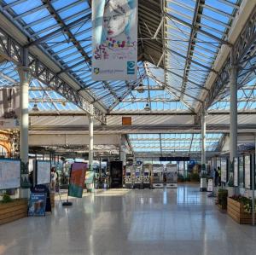
<path id="1" fill-rule="evenodd" d="M 234 186 L 234 158 L 237 157 L 237 67 L 231 50 L 230 66 L 230 172 L 229 186 Z"/>

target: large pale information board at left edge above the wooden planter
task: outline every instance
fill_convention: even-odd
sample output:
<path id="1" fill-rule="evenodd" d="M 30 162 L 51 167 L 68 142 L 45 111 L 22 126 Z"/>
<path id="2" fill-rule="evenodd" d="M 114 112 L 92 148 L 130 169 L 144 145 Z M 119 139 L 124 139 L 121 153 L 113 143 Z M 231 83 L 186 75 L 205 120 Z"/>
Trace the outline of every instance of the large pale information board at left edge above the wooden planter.
<path id="1" fill-rule="evenodd" d="M 0 189 L 20 188 L 20 159 L 0 159 Z"/>

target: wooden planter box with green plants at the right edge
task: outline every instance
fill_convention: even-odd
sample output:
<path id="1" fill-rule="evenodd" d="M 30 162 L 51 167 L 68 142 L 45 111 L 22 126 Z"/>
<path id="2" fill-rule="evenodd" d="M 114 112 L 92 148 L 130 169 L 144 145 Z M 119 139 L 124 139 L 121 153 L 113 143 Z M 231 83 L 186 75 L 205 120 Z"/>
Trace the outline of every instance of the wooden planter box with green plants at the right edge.
<path id="1" fill-rule="evenodd" d="M 244 212 L 243 205 L 230 198 L 228 198 L 228 215 L 239 224 L 252 224 L 253 222 L 252 214 Z"/>

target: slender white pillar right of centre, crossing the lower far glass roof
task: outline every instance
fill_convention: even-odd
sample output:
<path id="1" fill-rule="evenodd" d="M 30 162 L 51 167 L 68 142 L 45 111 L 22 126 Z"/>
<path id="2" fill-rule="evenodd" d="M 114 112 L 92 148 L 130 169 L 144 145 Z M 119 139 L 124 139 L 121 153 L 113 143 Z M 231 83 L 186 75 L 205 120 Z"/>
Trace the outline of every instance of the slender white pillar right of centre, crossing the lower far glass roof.
<path id="1" fill-rule="evenodd" d="M 200 191 L 207 191 L 206 134 L 207 134 L 206 110 L 205 110 L 205 104 L 203 103 L 202 104 L 202 113 L 201 113 L 201 184 L 200 184 Z"/>

